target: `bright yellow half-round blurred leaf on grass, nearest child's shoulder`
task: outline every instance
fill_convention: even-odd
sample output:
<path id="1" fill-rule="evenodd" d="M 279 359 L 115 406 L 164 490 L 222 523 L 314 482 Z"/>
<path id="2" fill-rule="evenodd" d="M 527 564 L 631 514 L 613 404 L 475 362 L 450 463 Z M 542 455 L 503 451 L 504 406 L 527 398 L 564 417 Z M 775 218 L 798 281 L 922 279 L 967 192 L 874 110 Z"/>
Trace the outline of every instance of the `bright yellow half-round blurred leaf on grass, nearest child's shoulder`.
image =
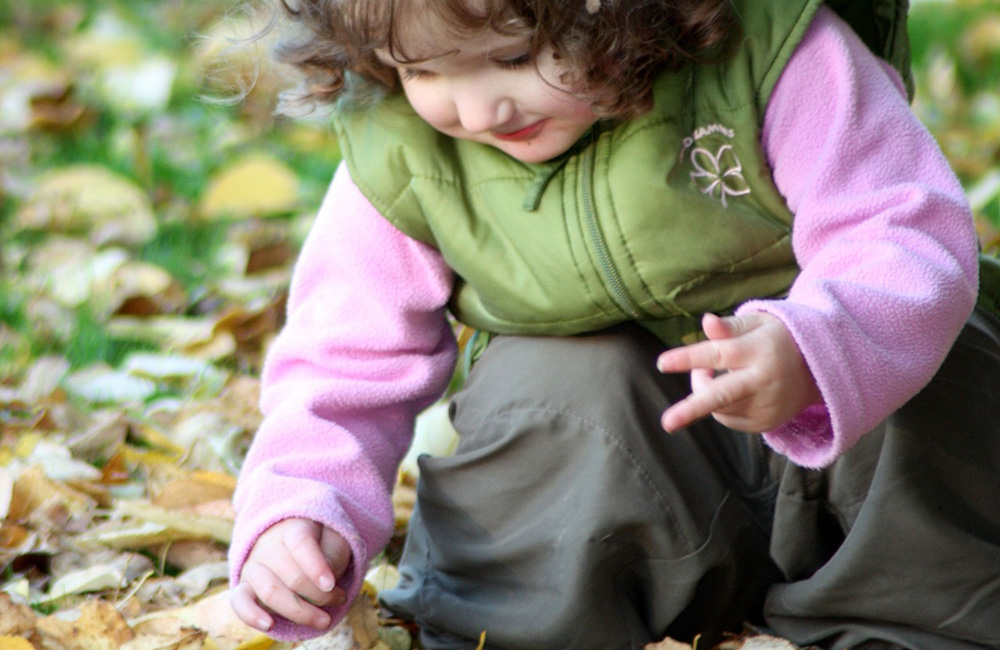
<path id="1" fill-rule="evenodd" d="M 201 198 L 207 219 L 268 216 L 294 210 L 299 178 L 285 163 L 264 154 L 250 154 L 215 174 Z"/>

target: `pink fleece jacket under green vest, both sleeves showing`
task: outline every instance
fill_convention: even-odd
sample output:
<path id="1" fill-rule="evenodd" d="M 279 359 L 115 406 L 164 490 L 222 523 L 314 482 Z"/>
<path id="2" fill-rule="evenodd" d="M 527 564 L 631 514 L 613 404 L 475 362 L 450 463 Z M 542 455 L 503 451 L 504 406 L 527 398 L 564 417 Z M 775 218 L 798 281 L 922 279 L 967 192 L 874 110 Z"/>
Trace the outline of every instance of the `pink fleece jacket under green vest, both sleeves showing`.
<path id="1" fill-rule="evenodd" d="M 896 74 L 821 9 L 774 91 L 762 144 L 795 213 L 802 272 L 780 318 L 823 395 L 765 434 L 829 464 L 923 387 L 975 302 L 976 237 L 962 188 Z M 390 493 L 417 413 L 443 392 L 456 345 L 452 273 L 391 226 L 341 166 L 295 269 L 288 323 L 264 368 L 236 491 L 233 583 L 257 537 L 289 517 L 340 532 L 357 594 L 393 529 Z M 330 613 L 338 620 L 345 608 Z M 316 630 L 278 620 L 279 639 Z"/>

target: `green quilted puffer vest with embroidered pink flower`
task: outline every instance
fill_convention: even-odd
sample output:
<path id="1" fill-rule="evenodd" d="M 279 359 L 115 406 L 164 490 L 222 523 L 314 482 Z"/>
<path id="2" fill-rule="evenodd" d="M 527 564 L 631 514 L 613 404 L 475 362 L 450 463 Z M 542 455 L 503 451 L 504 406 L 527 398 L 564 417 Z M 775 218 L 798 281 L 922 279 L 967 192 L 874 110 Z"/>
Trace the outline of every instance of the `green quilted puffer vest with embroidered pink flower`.
<path id="1" fill-rule="evenodd" d="M 338 113 L 344 158 L 375 208 L 455 270 L 461 322 L 569 335 L 633 320 L 688 342 L 701 314 L 780 296 L 798 273 L 760 127 L 820 4 L 736 0 L 732 58 L 661 75 L 652 111 L 598 123 L 547 163 L 443 136 L 402 94 Z M 889 50 L 905 54 L 902 34 Z"/>

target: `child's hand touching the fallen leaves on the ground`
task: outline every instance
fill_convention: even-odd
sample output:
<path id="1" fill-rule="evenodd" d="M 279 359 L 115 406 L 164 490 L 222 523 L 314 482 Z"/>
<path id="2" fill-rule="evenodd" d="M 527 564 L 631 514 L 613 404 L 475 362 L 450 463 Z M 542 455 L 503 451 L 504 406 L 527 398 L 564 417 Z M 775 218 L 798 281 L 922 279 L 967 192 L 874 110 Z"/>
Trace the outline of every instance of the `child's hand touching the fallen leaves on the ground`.
<path id="1" fill-rule="evenodd" d="M 244 623 L 262 632 L 274 626 L 272 614 L 325 630 L 333 621 L 320 607 L 346 602 L 337 582 L 350 561 L 351 548 L 337 532 L 308 519 L 285 519 L 257 539 L 229 602 Z"/>

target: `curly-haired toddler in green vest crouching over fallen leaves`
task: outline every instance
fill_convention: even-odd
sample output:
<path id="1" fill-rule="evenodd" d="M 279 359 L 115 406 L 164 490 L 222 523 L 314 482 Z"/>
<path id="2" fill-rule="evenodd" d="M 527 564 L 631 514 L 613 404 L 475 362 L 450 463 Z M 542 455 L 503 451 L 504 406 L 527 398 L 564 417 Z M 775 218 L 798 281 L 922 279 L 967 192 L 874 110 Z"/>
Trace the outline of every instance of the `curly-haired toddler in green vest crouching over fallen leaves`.
<path id="1" fill-rule="evenodd" d="M 344 615 L 452 375 L 450 312 L 489 342 L 382 594 L 424 647 L 706 647 L 745 621 L 1000 645 L 972 218 L 830 7 L 283 1 L 344 163 L 235 497 L 243 620 L 293 639 Z M 905 47 L 889 15 L 880 54 Z"/>

